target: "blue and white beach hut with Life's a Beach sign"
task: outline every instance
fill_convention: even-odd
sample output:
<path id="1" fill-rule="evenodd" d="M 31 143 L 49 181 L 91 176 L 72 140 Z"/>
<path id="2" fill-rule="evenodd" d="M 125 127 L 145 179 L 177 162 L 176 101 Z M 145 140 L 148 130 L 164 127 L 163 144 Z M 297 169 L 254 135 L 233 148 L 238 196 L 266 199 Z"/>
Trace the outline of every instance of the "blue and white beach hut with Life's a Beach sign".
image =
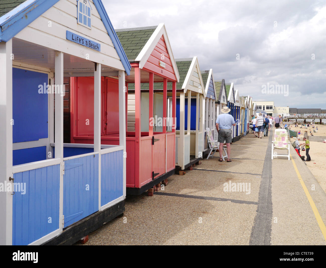
<path id="1" fill-rule="evenodd" d="M 131 66 L 101 0 L 6 3 L 0 9 L 0 244 L 71 244 L 124 212 L 124 87 Z M 94 83 L 87 100 L 94 116 L 85 120 L 91 144 L 64 143 L 70 77 L 78 76 Z M 101 76 L 118 83 L 115 145 L 100 142 Z"/>

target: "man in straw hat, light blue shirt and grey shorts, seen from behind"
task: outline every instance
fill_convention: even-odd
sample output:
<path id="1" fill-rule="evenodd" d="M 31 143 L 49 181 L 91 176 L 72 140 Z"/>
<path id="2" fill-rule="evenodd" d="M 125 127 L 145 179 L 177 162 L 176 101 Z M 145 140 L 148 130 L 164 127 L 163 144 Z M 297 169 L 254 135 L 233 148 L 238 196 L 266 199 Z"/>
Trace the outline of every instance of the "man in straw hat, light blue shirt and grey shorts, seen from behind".
<path id="1" fill-rule="evenodd" d="M 230 159 L 230 153 L 231 153 L 230 143 L 232 141 L 231 127 L 235 126 L 235 121 L 233 116 L 229 114 L 230 110 L 231 109 L 229 109 L 227 106 L 224 106 L 221 109 L 222 113 L 219 116 L 217 116 L 216 119 L 216 130 L 218 133 L 217 141 L 220 143 L 218 149 L 220 153 L 220 159 L 218 159 L 219 162 L 223 161 L 222 153 L 223 153 L 224 142 L 226 142 L 226 147 L 227 147 L 227 154 L 228 154 L 227 162 L 232 162 Z"/>

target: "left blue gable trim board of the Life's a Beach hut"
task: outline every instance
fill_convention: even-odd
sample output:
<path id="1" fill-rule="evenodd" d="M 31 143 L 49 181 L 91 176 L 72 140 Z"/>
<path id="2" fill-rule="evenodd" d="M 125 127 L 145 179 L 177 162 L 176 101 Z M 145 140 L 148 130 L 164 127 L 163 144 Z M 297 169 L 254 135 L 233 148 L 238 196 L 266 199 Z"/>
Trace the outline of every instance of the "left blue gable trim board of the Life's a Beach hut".
<path id="1" fill-rule="evenodd" d="M 8 42 L 60 0 L 27 0 L 0 18 L 0 41 Z"/>

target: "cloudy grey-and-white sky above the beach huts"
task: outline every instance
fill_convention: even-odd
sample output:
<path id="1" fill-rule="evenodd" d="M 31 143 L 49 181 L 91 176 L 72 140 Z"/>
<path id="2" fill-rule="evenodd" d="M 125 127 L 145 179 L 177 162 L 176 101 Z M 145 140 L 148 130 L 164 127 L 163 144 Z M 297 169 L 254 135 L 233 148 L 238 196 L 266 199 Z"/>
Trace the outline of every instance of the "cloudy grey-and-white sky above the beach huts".
<path id="1" fill-rule="evenodd" d="M 175 58 L 275 106 L 326 109 L 326 1 L 109 1 L 116 29 L 165 23 Z M 264 93 L 284 85 L 280 94 Z M 289 91 L 287 92 L 287 88 Z"/>

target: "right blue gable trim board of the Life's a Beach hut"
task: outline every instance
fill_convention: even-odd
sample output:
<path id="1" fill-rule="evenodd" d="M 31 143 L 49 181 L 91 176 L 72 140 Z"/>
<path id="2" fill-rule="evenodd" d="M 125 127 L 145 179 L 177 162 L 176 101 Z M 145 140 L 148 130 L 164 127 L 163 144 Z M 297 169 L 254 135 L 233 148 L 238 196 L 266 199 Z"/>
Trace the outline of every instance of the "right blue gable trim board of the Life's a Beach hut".
<path id="1" fill-rule="evenodd" d="M 98 14 L 101 17 L 104 27 L 106 28 L 106 30 L 112 40 L 114 48 L 117 51 L 118 56 L 122 62 L 122 65 L 123 65 L 123 67 L 125 67 L 127 75 L 130 75 L 131 65 L 129 63 L 129 60 L 126 56 L 124 49 L 122 48 L 122 45 L 121 45 L 119 38 L 113 28 L 113 25 L 109 19 L 108 13 L 106 12 L 106 10 L 103 6 L 102 1 L 101 0 L 93 0 L 93 3 L 97 9 Z"/>

